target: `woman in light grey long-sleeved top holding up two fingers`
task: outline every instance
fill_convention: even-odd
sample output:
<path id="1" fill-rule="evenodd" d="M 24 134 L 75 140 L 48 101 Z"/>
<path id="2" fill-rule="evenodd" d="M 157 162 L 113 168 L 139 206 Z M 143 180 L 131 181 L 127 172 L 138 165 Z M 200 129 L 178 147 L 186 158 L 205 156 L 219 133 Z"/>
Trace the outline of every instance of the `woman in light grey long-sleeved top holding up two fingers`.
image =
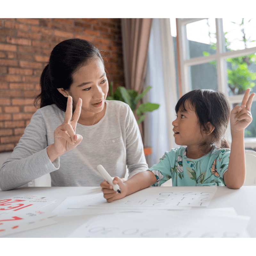
<path id="1" fill-rule="evenodd" d="M 20 187 L 50 173 L 52 186 L 100 186 L 97 170 L 129 178 L 148 169 L 130 107 L 106 100 L 108 79 L 99 50 L 68 39 L 52 50 L 41 78 L 40 108 L 0 170 L 0 188 Z"/>

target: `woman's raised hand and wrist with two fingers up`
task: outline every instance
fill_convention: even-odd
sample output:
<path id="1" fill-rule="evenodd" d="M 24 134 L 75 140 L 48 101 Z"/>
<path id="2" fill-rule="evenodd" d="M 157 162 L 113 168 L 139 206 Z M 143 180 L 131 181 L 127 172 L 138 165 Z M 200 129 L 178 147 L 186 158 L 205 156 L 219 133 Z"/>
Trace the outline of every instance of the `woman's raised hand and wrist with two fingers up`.
<path id="1" fill-rule="evenodd" d="M 64 122 L 54 131 L 54 144 L 51 144 L 47 148 L 47 154 L 51 162 L 65 152 L 76 148 L 83 140 L 82 135 L 76 134 L 76 124 L 80 117 L 81 106 L 82 99 L 79 98 L 76 104 L 76 110 L 72 116 L 72 97 L 68 96 Z"/>

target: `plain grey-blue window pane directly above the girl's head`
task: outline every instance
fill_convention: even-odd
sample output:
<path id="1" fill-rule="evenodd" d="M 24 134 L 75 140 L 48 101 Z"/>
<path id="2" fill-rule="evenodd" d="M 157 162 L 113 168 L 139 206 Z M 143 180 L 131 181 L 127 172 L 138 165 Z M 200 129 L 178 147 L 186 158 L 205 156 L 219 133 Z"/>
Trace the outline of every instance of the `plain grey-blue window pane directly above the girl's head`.
<path id="1" fill-rule="evenodd" d="M 188 67 L 190 90 L 218 89 L 216 61 Z"/>

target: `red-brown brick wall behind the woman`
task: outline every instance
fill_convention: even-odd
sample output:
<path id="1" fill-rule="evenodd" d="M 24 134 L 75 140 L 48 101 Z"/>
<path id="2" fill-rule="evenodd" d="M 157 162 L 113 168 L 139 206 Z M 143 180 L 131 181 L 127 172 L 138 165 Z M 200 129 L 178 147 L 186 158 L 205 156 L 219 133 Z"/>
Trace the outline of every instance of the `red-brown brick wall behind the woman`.
<path id="1" fill-rule="evenodd" d="M 0 19 L 0 152 L 13 150 L 35 113 L 53 47 L 75 37 L 104 51 L 109 84 L 124 86 L 120 19 Z"/>

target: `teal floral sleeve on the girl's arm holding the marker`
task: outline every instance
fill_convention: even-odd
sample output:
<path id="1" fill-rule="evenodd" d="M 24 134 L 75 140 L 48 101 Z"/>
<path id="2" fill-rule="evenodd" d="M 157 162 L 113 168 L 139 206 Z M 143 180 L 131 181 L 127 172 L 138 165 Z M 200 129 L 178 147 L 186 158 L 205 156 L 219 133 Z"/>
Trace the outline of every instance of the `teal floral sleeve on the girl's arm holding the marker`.
<path id="1" fill-rule="evenodd" d="M 176 159 L 175 155 L 175 149 L 172 149 L 170 152 L 165 152 L 164 156 L 160 158 L 160 162 L 148 169 L 155 174 L 157 179 L 156 183 L 152 185 L 153 187 L 159 187 L 165 181 L 172 178 L 171 170 L 175 165 L 173 162 L 173 160 Z"/>

